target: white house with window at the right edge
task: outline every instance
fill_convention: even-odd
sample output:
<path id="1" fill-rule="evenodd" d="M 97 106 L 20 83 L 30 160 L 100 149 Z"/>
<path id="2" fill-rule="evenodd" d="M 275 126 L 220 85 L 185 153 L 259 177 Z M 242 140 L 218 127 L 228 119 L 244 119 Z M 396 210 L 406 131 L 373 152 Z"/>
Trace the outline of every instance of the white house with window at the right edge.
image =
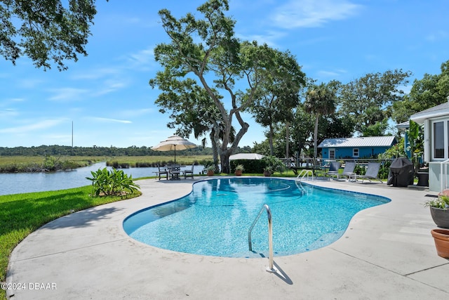
<path id="1" fill-rule="evenodd" d="M 448 188 L 449 164 L 449 97 L 448 102 L 410 117 L 424 124 L 424 162 L 429 163 L 429 190 Z"/>

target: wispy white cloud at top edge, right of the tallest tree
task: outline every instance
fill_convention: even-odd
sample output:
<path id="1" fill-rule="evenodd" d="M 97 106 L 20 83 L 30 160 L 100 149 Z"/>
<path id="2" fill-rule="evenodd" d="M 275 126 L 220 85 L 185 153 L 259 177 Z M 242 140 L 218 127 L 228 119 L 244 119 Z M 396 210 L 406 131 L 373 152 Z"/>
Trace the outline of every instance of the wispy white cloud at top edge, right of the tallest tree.
<path id="1" fill-rule="evenodd" d="M 347 0 L 291 0 L 276 9 L 272 19 L 282 28 L 320 27 L 332 20 L 344 20 L 359 8 Z"/>

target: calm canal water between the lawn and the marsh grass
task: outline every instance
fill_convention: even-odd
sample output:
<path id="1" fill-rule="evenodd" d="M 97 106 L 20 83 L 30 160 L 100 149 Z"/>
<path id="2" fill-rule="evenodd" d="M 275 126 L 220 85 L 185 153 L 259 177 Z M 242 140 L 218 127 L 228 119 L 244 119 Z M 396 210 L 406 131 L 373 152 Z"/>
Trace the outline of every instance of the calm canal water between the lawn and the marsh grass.
<path id="1" fill-rule="evenodd" d="M 92 181 L 89 181 L 86 177 L 92 176 L 91 171 L 97 171 L 105 167 L 105 162 L 99 162 L 72 171 L 0 174 L 0 195 L 43 192 L 46 190 L 65 190 L 67 188 L 91 185 Z M 107 168 L 112 169 L 111 167 Z M 181 170 L 186 168 L 190 169 L 192 166 L 181 167 Z M 200 174 L 203 169 L 203 166 L 195 166 L 194 174 Z M 121 170 L 128 175 L 132 175 L 133 178 L 155 176 L 156 171 L 158 171 L 157 168 L 153 167 Z"/>

